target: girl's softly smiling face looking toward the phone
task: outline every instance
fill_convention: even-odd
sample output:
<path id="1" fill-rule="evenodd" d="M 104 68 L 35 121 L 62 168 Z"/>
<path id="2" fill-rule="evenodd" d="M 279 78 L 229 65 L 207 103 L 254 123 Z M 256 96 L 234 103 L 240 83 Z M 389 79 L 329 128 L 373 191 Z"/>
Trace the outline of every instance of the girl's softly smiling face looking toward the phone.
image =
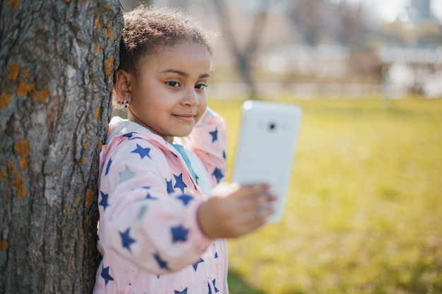
<path id="1" fill-rule="evenodd" d="M 169 143 L 189 135 L 207 107 L 211 61 L 207 47 L 191 41 L 148 56 L 131 75 L 129 120 Z"/>

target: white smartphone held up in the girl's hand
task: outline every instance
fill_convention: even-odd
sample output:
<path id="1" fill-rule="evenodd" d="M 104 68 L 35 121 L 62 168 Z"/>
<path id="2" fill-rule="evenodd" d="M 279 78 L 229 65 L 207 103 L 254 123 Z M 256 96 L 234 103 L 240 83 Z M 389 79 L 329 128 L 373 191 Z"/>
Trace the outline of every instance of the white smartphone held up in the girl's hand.
<path id="1" fill-rule="evenodd" d="M 268 183 L 278 197 L 269 223 L 280 221 L 301 123 L 301 109 L 292 104 L 247 100 L 232 171 L 240 184 Z"/>

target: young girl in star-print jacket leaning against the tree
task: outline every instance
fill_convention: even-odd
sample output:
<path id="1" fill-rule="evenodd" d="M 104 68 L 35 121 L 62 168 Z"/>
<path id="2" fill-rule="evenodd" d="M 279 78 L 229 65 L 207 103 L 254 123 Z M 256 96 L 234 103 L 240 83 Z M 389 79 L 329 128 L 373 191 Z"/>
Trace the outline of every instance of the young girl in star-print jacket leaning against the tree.
<path id="1" fill-rule="evenodd" d="M 207 107 L 208 34 L 161 8 L 124 21 L 114 93 L 129 120 L 112 119 L 100 154 L 94 293 L 228 293 L 225 238 L 262 226 L 275 197 L 218 185 L 226 134 Z"/>

